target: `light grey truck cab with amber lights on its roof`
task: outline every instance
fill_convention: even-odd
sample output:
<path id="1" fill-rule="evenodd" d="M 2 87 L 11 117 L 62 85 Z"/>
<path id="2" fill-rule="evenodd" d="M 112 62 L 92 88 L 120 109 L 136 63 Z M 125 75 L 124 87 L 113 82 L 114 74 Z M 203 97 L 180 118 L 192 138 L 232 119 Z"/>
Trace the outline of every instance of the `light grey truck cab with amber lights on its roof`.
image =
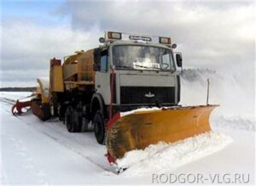
<path id="1" fill-rule="evenodd" d="M 179 103 L 177 66 L 182 66 L 182 58 L 176 54 L 174 59 L 176 44 L 172 44 L 171 37 L 106 31 L 100 42 L 102 45 L 95 50 L 92 103 L 96 98 L 104 104 L 98 107 L 102 108 L 101 117 L 107 118 L 105 121 L 120 111 Z M 91 113 L 96 115 L 98 108 L 93 105 Z"/>

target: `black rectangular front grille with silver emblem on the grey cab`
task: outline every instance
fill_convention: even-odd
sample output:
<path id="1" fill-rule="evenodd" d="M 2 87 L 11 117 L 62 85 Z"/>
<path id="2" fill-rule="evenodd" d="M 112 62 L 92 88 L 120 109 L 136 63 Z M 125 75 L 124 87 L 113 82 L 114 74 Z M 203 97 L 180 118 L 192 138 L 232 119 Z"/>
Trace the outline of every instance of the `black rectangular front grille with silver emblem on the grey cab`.
<path id="1" fill-rule="evenodd" d="M 145 94 L 154 94 L 148 98 Z M 175 103 L 175 87 L 120 87 L 121 104 Z"/>

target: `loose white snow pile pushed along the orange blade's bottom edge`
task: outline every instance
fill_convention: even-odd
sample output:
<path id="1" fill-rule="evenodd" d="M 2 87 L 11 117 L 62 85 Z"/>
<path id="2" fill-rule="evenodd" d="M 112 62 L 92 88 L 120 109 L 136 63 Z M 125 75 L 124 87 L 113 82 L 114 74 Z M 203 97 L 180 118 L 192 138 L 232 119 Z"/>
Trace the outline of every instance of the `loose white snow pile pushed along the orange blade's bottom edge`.
<path id="1" fill-rule="evenodd" d="M 118 167 L 129 167 L 122 173 L 129 177 L 154 172 L 171 172 L 179 166 L 224 149 L 231 142 L 232 139 L 224 134 L 205 132 L 172 144 L 160 142 L 151 144 L 144 150 L 132 150 L 116 162 Z"/>

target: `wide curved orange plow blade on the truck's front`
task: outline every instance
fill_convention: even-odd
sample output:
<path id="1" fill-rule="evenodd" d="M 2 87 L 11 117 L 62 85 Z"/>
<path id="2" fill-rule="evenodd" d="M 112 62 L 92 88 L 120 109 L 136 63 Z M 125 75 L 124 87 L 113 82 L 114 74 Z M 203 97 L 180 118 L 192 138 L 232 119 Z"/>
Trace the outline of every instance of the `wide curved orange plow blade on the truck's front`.
<path id="1" fill-rule="evenodd" d="M 145 149 L 160 141 L 172 143 L 211 131 L 209 116 L 218 105 L 175 107 L 117 113 L 107 124 L 108 161 L 122 158 L 132 149 Z"/>

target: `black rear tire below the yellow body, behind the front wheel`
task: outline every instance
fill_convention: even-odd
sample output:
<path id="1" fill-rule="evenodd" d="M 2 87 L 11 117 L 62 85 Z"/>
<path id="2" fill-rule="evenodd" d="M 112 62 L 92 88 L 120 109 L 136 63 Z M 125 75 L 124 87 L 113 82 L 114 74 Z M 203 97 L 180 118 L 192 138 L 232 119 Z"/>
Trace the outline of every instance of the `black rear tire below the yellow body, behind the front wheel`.
<path id="1" fill-rule="evenodd" d="M 81 132 L 82 124 L 79 123 L 79 116 L 76 109 L 68 106 L 65 113 L 65 123 L 68 132 Z"/>

